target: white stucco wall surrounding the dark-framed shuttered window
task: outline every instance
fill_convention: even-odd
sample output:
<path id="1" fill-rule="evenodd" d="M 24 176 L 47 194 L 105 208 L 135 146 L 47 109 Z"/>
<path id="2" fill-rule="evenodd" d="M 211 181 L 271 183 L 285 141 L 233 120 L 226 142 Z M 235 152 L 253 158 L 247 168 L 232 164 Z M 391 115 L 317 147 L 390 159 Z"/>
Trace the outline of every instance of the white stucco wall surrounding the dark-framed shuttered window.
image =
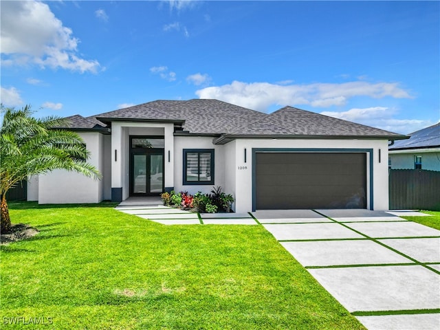
<path id="1" fill-rule="evenodd" d="M 214 186 L 224 188 L 225 162 L 224 146 L 212 144 L 213 137 L 176 136 L 174 145 L 174 190 L 188 191 L 195 194 L 198 191 L 209 193 Z M 214 184 L 184 185 L 184 149 L 214 149 Z M 224 190 L 224 189 L 223 189 Z M 229 192 L 228 192 L 229 193 Z"/>

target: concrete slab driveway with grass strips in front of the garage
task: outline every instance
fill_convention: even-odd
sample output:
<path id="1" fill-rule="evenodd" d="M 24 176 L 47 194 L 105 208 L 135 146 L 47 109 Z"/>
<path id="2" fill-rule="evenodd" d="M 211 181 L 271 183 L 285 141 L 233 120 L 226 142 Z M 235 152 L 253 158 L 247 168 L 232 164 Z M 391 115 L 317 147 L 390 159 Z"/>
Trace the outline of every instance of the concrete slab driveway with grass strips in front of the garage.
<path id="1" fill-rule="evenodd" d="M 252 212 L 366 328 L 438 330 L 440 231 L 398 214 L 371 210 Z"/>

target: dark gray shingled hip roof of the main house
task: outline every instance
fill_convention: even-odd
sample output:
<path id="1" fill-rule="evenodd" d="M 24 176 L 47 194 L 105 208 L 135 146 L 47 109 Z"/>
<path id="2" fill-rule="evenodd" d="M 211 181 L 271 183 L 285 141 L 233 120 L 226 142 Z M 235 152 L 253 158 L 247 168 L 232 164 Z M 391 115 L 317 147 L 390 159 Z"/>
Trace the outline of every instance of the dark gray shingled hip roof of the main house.
<path id="1" fill-rule="evenodd" d="M 284 107 L 267 114 L 219 100 L 205 99 L 157 100 L 89 118 L 72 118 L 72 122 L 83 126 L 91 125 L 92 122 L 105 126 L 113 121 L 174 122 L 184 130 L 177 133 L 214 135 L 217 136 L 214 141 L 216 144 L 238 137 L 407 138 L 406 135 L 294 107 Z"/>

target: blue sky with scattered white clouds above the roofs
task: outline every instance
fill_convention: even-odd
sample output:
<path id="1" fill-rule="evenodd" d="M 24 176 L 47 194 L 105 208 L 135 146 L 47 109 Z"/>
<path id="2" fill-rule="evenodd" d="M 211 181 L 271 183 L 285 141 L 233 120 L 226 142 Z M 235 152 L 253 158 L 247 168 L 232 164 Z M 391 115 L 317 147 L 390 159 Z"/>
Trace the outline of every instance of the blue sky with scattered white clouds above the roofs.
<path id="1" fill-rule="evenodd" d="M 439 1 L 1 1 L 1 102 L 285 105 L 410 133 L 440 120 Z"/>

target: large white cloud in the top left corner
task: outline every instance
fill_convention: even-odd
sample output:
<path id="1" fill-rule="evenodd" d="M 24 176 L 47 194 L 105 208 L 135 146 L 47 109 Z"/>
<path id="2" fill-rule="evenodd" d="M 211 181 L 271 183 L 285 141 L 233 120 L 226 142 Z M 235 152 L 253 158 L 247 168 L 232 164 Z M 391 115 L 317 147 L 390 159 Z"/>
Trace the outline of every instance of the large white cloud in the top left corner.
<path id="1" fill-rule="evenodd" d="M 49 6 L 39 1 L 2 1 L 1 53 L 3 65 L 61 67 L 97 72 L 98 61 L 78 57 L 79 40 L 63 26 Z"/>

